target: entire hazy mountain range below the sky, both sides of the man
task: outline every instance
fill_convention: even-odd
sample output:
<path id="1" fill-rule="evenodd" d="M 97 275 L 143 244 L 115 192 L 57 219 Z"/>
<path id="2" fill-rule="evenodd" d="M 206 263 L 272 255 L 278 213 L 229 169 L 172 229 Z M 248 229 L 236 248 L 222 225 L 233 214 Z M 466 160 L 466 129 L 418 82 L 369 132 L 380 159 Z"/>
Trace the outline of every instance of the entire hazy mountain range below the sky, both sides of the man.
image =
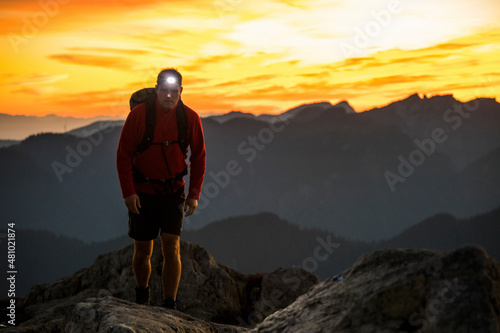
<path id="1" fill-rule="evenodd" d="M 370 242 L 436 214 L 465 219 L 500 204 L 500 104 L 493 99 L 415 94 L 363 113 L 347 102 L 318 103 L 202 122 L 207 173 L 185 230 L 268 211 Z M 121 126 L 99 124 L 0 149 L 4 225 L 86 242 L 126 233 L 115 170 Z"/>

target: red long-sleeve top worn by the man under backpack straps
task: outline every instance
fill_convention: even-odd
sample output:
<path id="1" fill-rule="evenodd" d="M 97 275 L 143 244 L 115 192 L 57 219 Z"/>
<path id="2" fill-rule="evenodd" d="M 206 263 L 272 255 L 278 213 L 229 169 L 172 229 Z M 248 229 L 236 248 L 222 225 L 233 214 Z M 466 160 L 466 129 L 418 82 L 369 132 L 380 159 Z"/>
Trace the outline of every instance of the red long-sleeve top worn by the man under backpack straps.
<path id="1" fill-rule="evenodd" d="M 153 142 L 177 141 L 177 117 L 173 107 L 165 111 L 156 99 L 156 124 Z M 198 114 L 184 106 L 188 124 L 188 144 L 191 150 L 189 158 L 189 192 L 188 198 L 200 199 L 201 187 L 205 176 L 205 140 Z M 150 179 L 169 179 L 187 167 L 184 155 L 178 144 L 170 146 L 151 145 L 148 149 L 136 155 L 136 149 L 142 141 L 146 131 L 146 105 L 137 105 L 130 111 L 120 136 L 116 154 L 116 167 L 123 197 L 126 198 L 136 192 L 155 194 L 163 190 L 159 184 L 134 183 L 132 179 L 132 165 L 144 176 Z M 168 167 L 161 150 L 164 150 Z M 169 173 L 169 170 L 171 173 Z M 174 190 L 184 185 L 184 179 L 174 183 Z"/>

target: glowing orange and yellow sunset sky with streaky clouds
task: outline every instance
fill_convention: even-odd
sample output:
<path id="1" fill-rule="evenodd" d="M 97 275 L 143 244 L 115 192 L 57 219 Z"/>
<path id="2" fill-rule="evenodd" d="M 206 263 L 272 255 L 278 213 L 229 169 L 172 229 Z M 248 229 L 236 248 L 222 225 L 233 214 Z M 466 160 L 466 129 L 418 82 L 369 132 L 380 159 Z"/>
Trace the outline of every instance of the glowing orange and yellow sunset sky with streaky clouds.
<path id="1" fill-rule="evenodd" d="M 500 97 L 498 0 L 0 0 L 0 113 L 128 114 L 158 72 L 201 116 Z"/>

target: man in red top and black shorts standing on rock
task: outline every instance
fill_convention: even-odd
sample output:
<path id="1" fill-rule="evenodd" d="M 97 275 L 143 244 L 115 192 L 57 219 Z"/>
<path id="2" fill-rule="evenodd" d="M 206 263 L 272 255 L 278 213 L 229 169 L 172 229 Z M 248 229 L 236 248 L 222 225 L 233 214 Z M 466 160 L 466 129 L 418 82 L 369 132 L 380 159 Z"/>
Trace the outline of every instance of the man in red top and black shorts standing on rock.
<path id="1" fill-rule="evenodd" d="M 180 234 L 183 214 L 196 210 L 205 175 L 205 142 L 200 117 L 181 101 L 182 76 L 175 69 L 158 74 L 155 86 L 156 120 L 152 144 L 138 152 L 146 131 L 146 103 L 134 107 L 125 121 L 117 151 L 117 170 L 129 210 L 129 236 L 134 239 L 132 266 L 137 282 L 136 303 L 149 304 L 149 277 L 153 240 L 161 234 L 163 252 L 163 306 L 176 308 L 181 276 Z M 177 108 L 185 109 L 187 145 L 191 150 L 187 199 L 187 172 L 177 123 Z M 182 109 L 180 109 L 182 110 Z M 180 112 L 180 111 L 179 111 Z"/>

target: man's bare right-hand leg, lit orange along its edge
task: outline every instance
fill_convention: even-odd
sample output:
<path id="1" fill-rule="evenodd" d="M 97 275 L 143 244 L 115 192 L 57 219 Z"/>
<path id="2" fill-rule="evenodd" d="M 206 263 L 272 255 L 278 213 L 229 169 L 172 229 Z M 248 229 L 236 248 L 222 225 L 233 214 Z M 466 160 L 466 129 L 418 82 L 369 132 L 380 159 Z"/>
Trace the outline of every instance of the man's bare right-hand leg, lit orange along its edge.
<path id="1" fill-rule="evenodd" d="M 175 300 L 179 281 L 181 279 L 180 237 L 162 233 L 161 245 L 163 252 L 162 286 L 163 299 Z"/>

